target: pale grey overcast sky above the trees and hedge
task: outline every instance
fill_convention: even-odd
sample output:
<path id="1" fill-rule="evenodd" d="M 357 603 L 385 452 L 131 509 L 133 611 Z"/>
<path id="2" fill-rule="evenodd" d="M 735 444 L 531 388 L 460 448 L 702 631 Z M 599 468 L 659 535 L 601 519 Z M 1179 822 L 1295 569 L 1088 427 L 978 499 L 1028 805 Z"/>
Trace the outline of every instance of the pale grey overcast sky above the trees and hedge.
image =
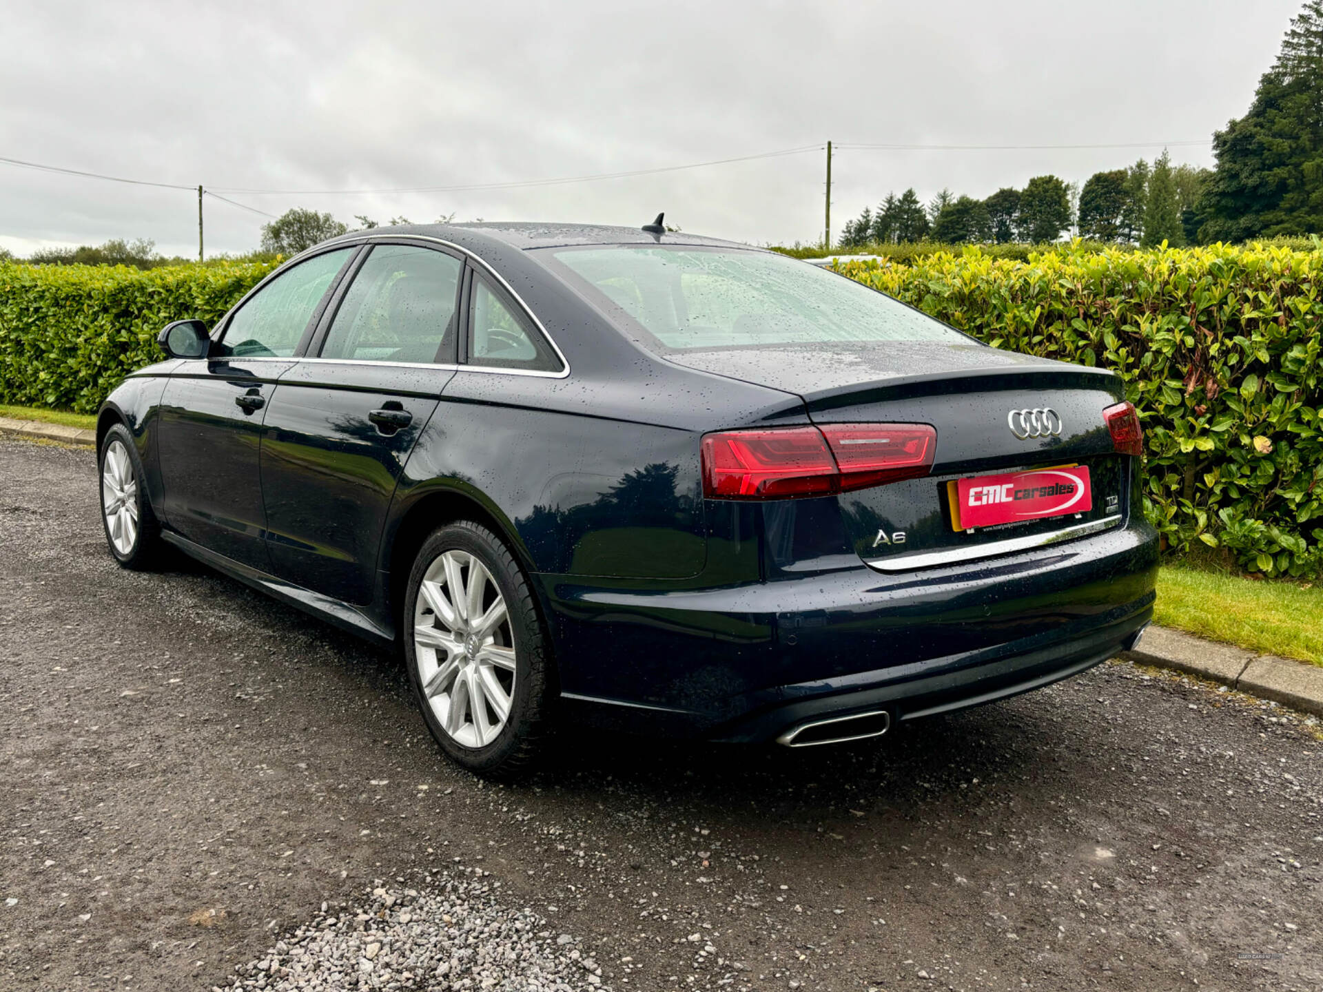
<path id="1" fill-rule="evenodd" d="M 753 242 L 822 237 L 888 190 L 1082 183 L 1207 142 L 1248 107 L 1297 0 L 7 4 L 0 156 L 222 189 L 460 186 L 811 151 L 590 183 L 225 193 L 415 222 L 665 210 Z M 886 144 L 1146 148 L 868 151 Z M 1211 165 L 1207 145 L 1174 161 Z M 206 249 L 266 218 L 208 198 Z M 197 194 L 0 164 L 0 246 L 152 238 L 196 254 Z"/>

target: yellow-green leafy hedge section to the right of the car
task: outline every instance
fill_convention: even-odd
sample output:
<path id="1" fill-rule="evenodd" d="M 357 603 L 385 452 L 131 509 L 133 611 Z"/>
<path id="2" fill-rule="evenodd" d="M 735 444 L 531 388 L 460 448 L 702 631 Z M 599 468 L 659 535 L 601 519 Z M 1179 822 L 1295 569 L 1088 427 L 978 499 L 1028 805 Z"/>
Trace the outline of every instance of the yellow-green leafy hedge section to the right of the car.
<path id="1" fill-rule="evenodd" d="M 1144 511 L 1171 546 L 1323 569 L 1323 251 L 966 249 L 840 271 L 996 348 L 1118 372 L 1144 425 Z"/>

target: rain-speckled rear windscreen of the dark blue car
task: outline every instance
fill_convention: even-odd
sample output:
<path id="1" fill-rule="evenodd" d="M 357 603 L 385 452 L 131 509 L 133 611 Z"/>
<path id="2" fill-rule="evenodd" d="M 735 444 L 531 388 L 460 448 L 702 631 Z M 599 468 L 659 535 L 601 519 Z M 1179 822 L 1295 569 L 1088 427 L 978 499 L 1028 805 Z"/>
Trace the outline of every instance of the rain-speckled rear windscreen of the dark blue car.
<path id="1" fill-rule="evenodd" d="M 573 247 L 552 254 L 572 283 L 599 304 L 615 304 L 609 310 L 624 311 L 647 332 L 635 335 L 639 343 L 658 351 L 968 343 L 890 296 L 785 255 L 679 245 Z"/>

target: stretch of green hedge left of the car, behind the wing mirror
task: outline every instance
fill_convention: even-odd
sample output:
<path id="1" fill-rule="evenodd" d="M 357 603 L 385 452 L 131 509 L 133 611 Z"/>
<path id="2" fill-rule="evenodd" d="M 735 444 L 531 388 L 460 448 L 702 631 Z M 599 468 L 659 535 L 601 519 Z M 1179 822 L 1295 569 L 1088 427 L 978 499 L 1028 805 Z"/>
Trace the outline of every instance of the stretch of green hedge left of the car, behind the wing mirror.
<path id="1" fill-rule="evenodd" d="M 0 403 L 95 413 L 128 372 L 164 357 L 156 335 L 165 324 L 214 324 L 275 265 L 0 262 Z"/>

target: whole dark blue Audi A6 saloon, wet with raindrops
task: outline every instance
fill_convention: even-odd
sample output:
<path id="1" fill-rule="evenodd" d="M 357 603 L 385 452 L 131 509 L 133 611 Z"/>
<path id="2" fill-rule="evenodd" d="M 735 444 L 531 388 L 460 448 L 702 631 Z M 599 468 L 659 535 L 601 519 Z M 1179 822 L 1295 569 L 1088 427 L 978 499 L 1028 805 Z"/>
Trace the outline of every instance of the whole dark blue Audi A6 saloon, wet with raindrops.
<path id="1" fill-rule="evenodd" d="M 398 644 L 479 772 L 560 721 L 872 737 L 1082 672 L 1152 612 L 1119 378 L 770 251 L 378 227 L 160 343 L 99 414 L 111 553 L 172 545 Z"/>

